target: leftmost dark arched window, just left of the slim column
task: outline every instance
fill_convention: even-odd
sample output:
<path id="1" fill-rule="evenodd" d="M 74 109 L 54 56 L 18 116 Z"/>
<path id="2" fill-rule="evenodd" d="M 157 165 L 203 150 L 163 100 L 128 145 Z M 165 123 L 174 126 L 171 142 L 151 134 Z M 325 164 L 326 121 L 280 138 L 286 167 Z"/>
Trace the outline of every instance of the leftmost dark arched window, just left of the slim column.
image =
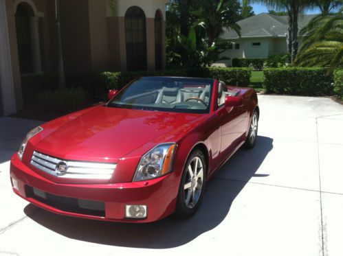
<path id="1" fill-rule="evenodd" d="M 21 73 L 32 73 L 32 47 L 30 16 L 33 10 L 27 3 L 19 3 L 16 8 L 16 40 L 18 42 L 19 67 Z"/>

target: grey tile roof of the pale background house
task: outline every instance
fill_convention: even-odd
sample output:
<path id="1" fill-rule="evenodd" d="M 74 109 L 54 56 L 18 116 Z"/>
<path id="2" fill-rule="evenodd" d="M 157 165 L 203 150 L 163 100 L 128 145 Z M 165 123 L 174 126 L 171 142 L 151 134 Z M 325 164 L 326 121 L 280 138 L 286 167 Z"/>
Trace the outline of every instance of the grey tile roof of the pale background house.
<path id="1" fill-rule="evenodd" d="M 305 27 L 316 14 L 300 15 L 298 19 L 299 30 Z M 241 37 L 285 37 L 287 35 L 287 16 L 276 16 L 273 14 L 261 13 L 243 19 L 238 22 L 241 27 Z M 239 38 L 234 30 L 225 30 L 221 35 L 224 39 Z"/>

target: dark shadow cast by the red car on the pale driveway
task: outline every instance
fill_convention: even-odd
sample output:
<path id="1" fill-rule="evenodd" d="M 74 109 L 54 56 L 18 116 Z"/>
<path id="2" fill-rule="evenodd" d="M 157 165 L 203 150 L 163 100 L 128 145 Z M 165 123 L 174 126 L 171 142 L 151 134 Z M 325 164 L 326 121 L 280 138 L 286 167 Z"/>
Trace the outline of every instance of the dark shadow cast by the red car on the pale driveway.
<path id="1" fill-rule="evenodd" d="M 228 216 L 234 198 L 252 176 L 267 176 L 255 172 L 272 150 L 273 139 L 258 137 L 256 142 L 254 149 L 239 150 L 221 167 L 219 173 L 207 183 L 199 211 L 187 220 L 170 216 L 154 223 L 128 224 L 71 218 L 44 210 L 32 213 L 36 208 L 34 205 L 28 205 L 24 211 L 38 224 L 74 240 L 133 248 L 181 246 L 218 226 Z M 225 172 L 234 172 L 239 181 L 220 178 Z"/>

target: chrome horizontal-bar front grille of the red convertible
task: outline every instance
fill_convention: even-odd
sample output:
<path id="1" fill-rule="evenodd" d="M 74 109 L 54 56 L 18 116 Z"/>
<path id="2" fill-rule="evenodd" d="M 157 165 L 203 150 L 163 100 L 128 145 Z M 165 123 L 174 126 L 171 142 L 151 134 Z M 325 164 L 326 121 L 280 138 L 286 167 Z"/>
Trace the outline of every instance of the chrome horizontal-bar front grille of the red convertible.
<path id="1" fill-rule="evenodd" d="M 66 170 L 63 173 L 57 171 L 57 165 L 65 164 Z M 56 157 L 48 156 L 40 152 L 34 151 L 32 154 L 31 165 L 59 178 L 96 178 L 109 179 L 111 178 L 116 164 L 115 163 L 96 163 L 96 162 L 81 162 L 67 161 Z"/>

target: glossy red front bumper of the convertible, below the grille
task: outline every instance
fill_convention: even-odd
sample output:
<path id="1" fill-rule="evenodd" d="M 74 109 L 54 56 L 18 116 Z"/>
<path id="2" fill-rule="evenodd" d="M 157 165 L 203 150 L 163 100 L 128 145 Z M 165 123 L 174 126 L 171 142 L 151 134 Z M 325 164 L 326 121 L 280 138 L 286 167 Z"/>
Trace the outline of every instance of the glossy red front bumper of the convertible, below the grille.
<path id="1" fill-rule="evenodd" d="M 174 171 L 151 181 L 132 183 L 64 184 L 54 183 L 34 172 L 21 162 L 16 154 L 12 156 L 10 165 L 10 176 L 18 182 L 18 189 L 13 187 L 13 190 L 21 198 L 53 213 L 114 222 L 154 222 L 173 213 L 179 187 L 177 173 L 181 172 Z M 103 202 L 104 212 L 93 214 L 91 211 L 80 212 L 73 211 L 71 208 L 58 207 L 56 204 L 50 204 L 32 196 L 33 188 L 45 191 L 54 198 Z M 125 218 L 126 205 L 146 205 L 147 217 L 144 219 Z"/>

